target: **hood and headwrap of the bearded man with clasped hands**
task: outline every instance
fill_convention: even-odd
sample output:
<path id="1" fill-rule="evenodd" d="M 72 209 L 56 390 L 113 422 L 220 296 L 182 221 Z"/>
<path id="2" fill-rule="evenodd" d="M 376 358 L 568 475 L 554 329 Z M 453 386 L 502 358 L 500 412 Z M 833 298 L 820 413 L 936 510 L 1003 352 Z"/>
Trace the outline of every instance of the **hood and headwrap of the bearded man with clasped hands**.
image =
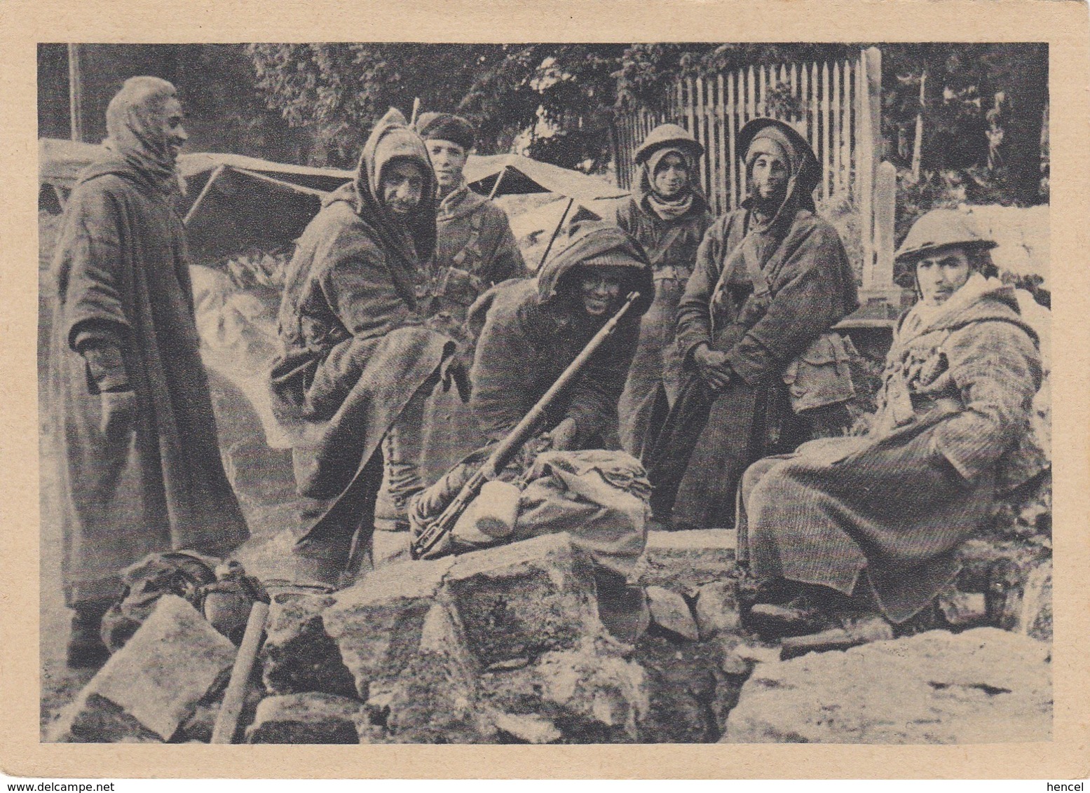
<path id="1" fill-rule="evenodd" d="M 810 144 L 792 126 L 776 119 L 753 119 L 738 133 L 738 147 L 744 152 L 747 183 L 753 176 L 753 162 L 762 154 L 783 157 L 788 168 L 787 195 L 766 225 L 777 218 L 794 217 L 797 209 L 816 211 L 813 192 L 821 179 L 821 167 Z M 752 190 L 750 196 L 742 206 L 753 206 Z"/>

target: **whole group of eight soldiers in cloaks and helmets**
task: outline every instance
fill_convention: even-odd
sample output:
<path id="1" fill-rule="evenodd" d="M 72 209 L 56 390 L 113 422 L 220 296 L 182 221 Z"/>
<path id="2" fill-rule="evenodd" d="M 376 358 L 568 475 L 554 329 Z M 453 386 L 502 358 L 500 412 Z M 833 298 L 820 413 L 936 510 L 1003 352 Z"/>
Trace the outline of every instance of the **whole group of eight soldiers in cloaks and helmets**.
<path id="1" fill-rule="evenodd" d="M 173 86 L 133 77 L 65 210 L 55 261 L 72 664 L 105 658 L 120 571 L 149 552 L 227 554 L 247 536 L 223 474 L 198 355 Z M 473 126 L 449 113 L 374 126 L 355 178 L 296 244 L 270 375 L 302 497 L 299 576 L 343 581 L 378 529 L 407 530 L 444 466 L 505 437 L 631 295 L 535 450 L 639 460 L 663 528 L 737 525 L 758 583 L 748 619 L 784 635 L 864 602 L 893 623 L 956 575 L 1017 456 L 1040 385 L 1037 337 L 956 212 L 922 218 L 897 257 L 918 302 L 897 326 L 869 429 L 849 435 L 858 306 L 820 168 L 791 126 L 740 132 L 748 198 L 714 218 L 703 149 L 673 124 L 635 152 L 616 217 L 573 223 L 530 272 L 504 211 L 465 184 Z M 634 464 L 634 461 L 632 461 Z M 635 466 L 637 468 L 639 466 Z"/>

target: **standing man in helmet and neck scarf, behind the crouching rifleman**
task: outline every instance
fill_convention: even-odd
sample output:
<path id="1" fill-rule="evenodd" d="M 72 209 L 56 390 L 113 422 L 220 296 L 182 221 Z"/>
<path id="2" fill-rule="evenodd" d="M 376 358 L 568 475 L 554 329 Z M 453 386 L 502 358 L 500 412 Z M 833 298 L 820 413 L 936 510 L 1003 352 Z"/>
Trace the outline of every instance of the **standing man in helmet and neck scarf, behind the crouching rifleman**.
<path id="1" fill-rule="evenodd" d="M 707 199 L 694 184 L 704 147 L 677 124 L 656 126 L 635 150 L 639 190 L 617 211 L 617 225 L 647 253 L 655 300 L 643 315 L 640 342 L 620 396 L 620 442 L 640 456 L 655 401 L 669 407 L 681 388 L 677 309 L 712 224 Z"/>

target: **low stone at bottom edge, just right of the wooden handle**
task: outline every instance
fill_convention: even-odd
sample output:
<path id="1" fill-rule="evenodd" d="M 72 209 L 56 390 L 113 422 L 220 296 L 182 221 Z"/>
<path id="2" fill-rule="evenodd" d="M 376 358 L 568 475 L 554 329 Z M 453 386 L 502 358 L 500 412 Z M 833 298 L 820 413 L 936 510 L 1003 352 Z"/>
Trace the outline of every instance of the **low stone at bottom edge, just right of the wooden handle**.
<path id="1" fill-rule="evenodd" d="M 367 743 L 367 715 L 359 699 L 323 692 L 262 699 L 246 728 L 250 744 Z"/>

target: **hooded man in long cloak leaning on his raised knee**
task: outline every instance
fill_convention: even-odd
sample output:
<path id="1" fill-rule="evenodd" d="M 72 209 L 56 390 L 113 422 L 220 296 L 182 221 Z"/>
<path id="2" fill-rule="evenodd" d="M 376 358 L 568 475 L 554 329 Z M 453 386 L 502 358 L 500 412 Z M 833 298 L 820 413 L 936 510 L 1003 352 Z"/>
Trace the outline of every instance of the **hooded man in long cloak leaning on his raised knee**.
<path id="1" fill-rule="evenodd" d="M 383 460 L 408 499 L 420 475 L 423 405 L 456 343 L 417 305 L 435 248 L 435 181 L 424 142 L 390 110 L 355 179 L 326 198 L 288 269 L 272 369 L 275 410 L 294 435 L 301 515 L 296 574 L 337 584 L 370 547 Z M 411 426 L 412 424 L 417 426 Z M 382 449 L 379 449 L 382 444 Z M 350 564 L 350 562 L 352 564 Z"/>

